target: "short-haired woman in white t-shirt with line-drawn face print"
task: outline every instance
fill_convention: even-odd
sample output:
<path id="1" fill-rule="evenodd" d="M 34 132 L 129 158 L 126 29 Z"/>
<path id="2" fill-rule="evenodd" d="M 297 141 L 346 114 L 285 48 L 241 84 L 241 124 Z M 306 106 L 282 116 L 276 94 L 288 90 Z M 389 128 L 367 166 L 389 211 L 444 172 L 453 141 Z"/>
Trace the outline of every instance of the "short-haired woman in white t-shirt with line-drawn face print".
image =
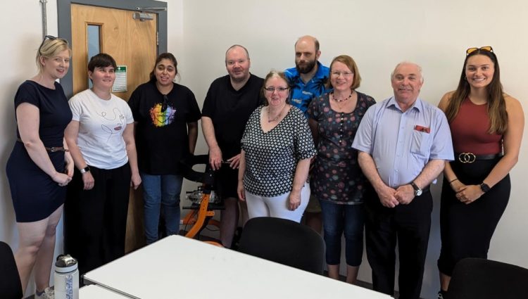
<path id="1" fill-rule="evenodd" d="M 111 94 L 115 60 L 92 57 L 93 87 L 70 98 L 73 120 L 65 139 L 75 175 L 65 202 L 65 252 L 84 274 L 125 254 L 130 186 L 142 180 L 137 167 L 134 119 L 127 103 Z"/>

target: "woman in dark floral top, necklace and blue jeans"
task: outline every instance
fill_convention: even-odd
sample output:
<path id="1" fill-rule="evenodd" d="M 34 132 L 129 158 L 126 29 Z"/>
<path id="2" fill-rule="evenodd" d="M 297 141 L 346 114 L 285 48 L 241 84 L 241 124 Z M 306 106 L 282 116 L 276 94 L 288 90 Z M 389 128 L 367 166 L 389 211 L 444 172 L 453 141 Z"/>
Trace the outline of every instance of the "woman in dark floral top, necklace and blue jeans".
<path id="1" fill-rule="evenodd" d="M 312 191 L 321 204 L 328 276 L 339 279 L 341 235 L 346 239 L 346 281 L 358 276 L 363 257 L 363 196 L 369 184 L 351 145 L 361 118 L 374 98 L 361 94 L 358 66 L 350 56 L 334 58 L 329 87 L 333 91 L 314 98 L 308 108 L 309 124 L 318 148 Z"/>

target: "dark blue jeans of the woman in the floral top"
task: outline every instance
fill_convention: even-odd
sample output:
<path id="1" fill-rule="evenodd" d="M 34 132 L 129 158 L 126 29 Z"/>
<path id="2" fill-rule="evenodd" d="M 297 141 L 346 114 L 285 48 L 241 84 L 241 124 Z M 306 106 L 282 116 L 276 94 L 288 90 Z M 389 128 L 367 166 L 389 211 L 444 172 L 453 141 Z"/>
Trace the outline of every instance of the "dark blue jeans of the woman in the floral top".
<path id="1" fill-rule="evenodd" d="M 320 201 L 322 226 L 325 231 L 326 259 L 328 265 L 341 261 L 341 236 L 345 235 L 346 265 L 359 266 L 363 259 L 363 227 L 365 210 L 360 205 L 340 205 Z"/>

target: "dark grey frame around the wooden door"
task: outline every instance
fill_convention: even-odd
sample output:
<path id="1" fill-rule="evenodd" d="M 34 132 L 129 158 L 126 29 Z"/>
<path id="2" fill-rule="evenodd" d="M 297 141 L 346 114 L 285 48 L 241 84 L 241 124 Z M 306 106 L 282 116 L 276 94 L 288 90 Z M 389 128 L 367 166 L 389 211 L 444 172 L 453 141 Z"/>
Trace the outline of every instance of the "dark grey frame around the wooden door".
<path id="1" fill-rule="evenodd" d="M 167 2 L 154 0 L 57 0 L 58 36 L 69 42 L 72 40 L 71 4 L 117 8 L 127 11 L 137 11 L 136 7 L 167 8 Z M 156 13 L 158 14 L 158 48 L 156 54 L 159 55 L 167 51 L 167 11 L 156 11 Z M 130 17 L 132 18 L 132 15 Z M 61 79 L 61 85 L 68 98 L 73 96 L 73 68 L 75 65 L 70 65 L 71 70 Z"/>

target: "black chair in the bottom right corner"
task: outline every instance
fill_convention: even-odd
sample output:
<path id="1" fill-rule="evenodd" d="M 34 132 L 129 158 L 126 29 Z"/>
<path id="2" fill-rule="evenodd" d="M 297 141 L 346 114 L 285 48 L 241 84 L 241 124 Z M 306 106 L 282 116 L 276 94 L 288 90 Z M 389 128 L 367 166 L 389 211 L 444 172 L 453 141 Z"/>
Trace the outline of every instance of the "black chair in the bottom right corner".
<path id="1" fill-rule="evenodd" d="M 528 269 L 482 258 L 460 260 L 446 299 L 527 299 Z"/>

